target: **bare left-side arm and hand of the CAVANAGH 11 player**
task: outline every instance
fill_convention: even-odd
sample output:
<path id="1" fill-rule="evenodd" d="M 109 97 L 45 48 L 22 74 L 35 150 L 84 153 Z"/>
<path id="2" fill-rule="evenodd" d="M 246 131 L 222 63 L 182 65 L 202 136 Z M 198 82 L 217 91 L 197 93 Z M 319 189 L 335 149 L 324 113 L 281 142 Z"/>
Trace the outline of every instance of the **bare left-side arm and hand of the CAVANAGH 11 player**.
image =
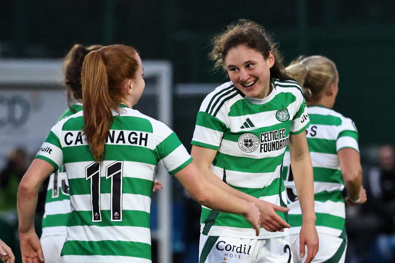
<path id="1" fill-rule="evenodd" d="M 40 239 L 34 229 L 38 190 L 54 167 L 41 159 L 34 159 L 24 174 L 18 188 L 17 209 L 22 262 L 44 262 Z"/>

